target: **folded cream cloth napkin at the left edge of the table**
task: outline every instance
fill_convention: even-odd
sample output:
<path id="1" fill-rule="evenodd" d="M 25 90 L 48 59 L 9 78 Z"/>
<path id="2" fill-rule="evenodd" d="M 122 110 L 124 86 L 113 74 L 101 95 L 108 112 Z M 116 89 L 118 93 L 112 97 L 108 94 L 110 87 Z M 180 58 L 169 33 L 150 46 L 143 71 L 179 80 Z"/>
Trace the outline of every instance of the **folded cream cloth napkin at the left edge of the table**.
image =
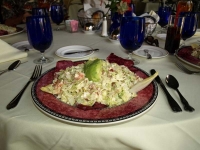
<path id="1" fill-rule="evenodd" d="M 27 57 L 27 53 L 20 51 L 0 39 L 0 63 Z"/>

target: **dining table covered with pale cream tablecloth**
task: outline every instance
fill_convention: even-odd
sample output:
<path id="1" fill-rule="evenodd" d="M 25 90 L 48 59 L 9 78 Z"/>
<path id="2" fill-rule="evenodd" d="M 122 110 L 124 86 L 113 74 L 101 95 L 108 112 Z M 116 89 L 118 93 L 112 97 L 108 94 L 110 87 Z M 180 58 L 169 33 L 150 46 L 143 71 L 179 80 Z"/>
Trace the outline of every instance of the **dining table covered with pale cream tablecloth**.
<path id="1" fill-rule="evenodd" d="M 164 49 L 165 40 L 159 40 L 159 47 Z M 197 41 L 198 36 L 186 40 L 186 43 Z M 26 31 L 1 38 L 10 45 L 28 41 Z M 62 47 L 81 45 L 98 48 L 98 52 L 83 58 L 63 58 L 56 55 Z M 145 42 L 143 46 L 149 46 Z M 155 47 L 156 48 L 156 47 Z M 3 49 L 3 47 L 1 47 Z M 5 49 L 6 50 L 6 49 Z M 166 95 L 155 82 L 158 94 L 155 102 L 143 113 L 129 119 L 112 123 L 77 123 L 58 119 L 44 112 L 33 101 L 31 83 L 21 97 L 18 105 L 10 110 L 7 104 L 18 94 L 36 66 L 33 60 L 40 56 L 34 49 L 27 51 L 28 56 L 13 71 L 0 76 L 0 150 L 199 150 L 200 149 L 200 75 L 186 74 L 176 66 L 176 61 L 193 70 L 197 67 L 188 65 L 175 55 L 146 59 L 133 54 L 140 61 L 136 67 L 150 75 L 155 69 L 171 96 L 182 108 L 174 112 L 170 108 Z M 45 56 L 54 61 L 42 64 L 42 73 L 54 68 L 61 60 L 80 61 L 89 58 L 106 59 L 111 53 L 127 58 L 126 50 L 119 42 L 112 42 L 102 37 L 101 32 L 86 34 L 81 29 L 77 32 L 53 30 L 53 42 Z M 1 55 L 1 54 L 0 54 Z M 0 63 L 0 70 L 6 69 L 12 61 Z M 179 90 L 195 111 L 185 111 L 175 90 L 165 83 L 168 74 L 179 81 Z"/>

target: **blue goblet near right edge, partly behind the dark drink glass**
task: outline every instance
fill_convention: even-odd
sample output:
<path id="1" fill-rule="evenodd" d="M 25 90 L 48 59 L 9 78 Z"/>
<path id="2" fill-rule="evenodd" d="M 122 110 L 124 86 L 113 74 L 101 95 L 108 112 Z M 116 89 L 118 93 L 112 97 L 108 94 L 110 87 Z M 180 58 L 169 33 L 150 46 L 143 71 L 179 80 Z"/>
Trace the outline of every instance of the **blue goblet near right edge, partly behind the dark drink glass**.
<path id="1" fill-rule="evenodd" d="M 183 40 L 181 46 L 184 46 L 185 40 L 192 37 L 197 30 L 198 16 L 195 12 L 181 12 L 180 16 L 185 17 L 185 22 L 181 34 Z"/>

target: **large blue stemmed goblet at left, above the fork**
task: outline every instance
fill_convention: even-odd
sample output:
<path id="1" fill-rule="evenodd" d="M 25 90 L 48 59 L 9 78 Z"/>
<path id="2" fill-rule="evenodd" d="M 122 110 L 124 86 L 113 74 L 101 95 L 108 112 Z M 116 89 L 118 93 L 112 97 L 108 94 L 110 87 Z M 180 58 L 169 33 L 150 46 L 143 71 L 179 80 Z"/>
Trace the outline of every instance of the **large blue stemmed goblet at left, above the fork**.
<path id="1" fill-rule="evenodd" d="M 41 57 L 35 59 L 36 64 L 50 63 L 52 57 L 45 57 L 44 52 L 53 41 L 51 22 L 48 16 L 30 16 L 26 18 L 27 36 L 30 45 L 41 52 Z"/>

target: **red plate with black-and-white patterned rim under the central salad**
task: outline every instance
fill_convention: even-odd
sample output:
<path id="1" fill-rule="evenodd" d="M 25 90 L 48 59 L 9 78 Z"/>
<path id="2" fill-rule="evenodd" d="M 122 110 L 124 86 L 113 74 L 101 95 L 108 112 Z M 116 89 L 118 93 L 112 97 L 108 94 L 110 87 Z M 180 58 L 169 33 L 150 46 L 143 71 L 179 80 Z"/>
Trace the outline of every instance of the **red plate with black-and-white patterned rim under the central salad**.
<path id="1" fill-rule="evenodd" d="M 131 67 L 130 69 L 142 78 L 149 76 L 145 71 L 137 67 Z M 37 108 L 48 116 L 65 122 L 84 125 L 105 125 L 127 121 L 147 112 L 155 103 L 158 95 L 157 84 L 152 82 L 145 89 L 138 92 L 137 97 L 120 106 L 83 110 L 65 104 L 56 99 L 52 94 L 40 90 L 41 87 L 52 83 L 54 72 L 55 68 L 52 68 L 43 73 L 42 76 L 34 82 L 31 94 Z"/>

